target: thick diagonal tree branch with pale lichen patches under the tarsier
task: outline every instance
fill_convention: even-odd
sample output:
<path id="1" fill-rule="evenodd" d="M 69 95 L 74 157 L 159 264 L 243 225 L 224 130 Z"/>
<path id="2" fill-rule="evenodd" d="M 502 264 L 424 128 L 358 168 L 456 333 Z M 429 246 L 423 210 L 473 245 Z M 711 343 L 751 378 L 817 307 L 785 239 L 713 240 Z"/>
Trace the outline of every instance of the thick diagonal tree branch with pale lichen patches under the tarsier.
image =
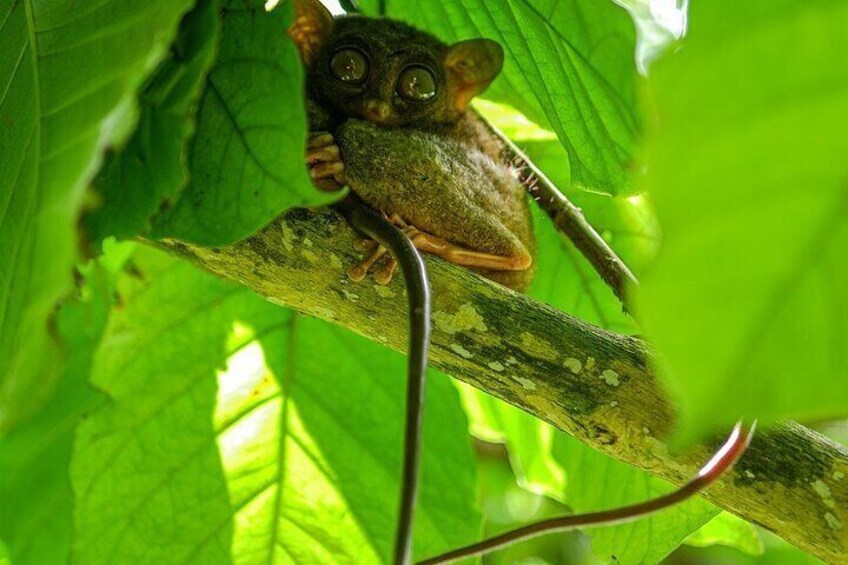
<path id="1" fill-rule="evenodd" d="M 294 210 L 234 246 L 155 243 L 270 301 L 406 348 L 403 281 L 353 283 L 358 236 L 330 210 Z M 572 318 L 438 259 L 431 362 L 618 460 L 673 483 L 689 479 L 718 442 L 684 456 L 662 438 L 674 414 L 639 340 Z M 706 497 L 830 563 L 846 563 L 848 449 L 794 423 L 754 438 Z"/>

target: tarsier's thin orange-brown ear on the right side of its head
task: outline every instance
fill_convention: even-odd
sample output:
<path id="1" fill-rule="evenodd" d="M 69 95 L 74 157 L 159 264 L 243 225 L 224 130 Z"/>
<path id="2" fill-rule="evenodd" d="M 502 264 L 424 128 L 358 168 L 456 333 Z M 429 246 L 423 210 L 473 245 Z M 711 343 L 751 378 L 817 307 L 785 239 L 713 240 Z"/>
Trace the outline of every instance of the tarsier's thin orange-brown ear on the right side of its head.
<path id="1" fill-rule="evenodd" d="M 503 68 L 503 47 L 491 39 L 469 39 L 448 47 L 445 69 L 457 110 L 486 90 Z"/>

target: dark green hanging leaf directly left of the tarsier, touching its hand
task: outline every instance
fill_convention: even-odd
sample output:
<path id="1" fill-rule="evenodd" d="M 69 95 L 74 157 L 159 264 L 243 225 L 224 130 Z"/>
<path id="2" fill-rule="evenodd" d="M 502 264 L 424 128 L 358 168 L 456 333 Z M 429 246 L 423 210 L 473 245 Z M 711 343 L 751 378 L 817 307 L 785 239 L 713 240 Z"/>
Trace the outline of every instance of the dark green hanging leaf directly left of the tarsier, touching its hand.
<path id="1" fill-rule="evenodd" d="M 336 198 L 306 174 L 303 68 L 285 29 L 291 2 L 227 0 L 218 59 L 189 150 L 190 180 L 154 222 L 155 237 L 205 245 L 245 238 L 281 212 Z"/>

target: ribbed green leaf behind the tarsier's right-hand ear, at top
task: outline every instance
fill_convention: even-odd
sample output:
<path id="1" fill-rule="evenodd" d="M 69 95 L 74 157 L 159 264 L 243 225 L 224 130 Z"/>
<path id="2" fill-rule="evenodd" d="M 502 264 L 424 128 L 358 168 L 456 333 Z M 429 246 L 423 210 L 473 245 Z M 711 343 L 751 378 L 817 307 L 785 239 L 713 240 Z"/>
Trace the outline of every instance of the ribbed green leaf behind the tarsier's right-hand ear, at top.
<path id="1" fill-rule="evenodd" d="M 486 98 L 549 125 L 567 151 L 574 186 L 632 191 L 640 118 L 635 31 L 625 10 L 595 0 L 389 0 L 387 12 L 445 41 L 498 41 L 504 71 Z"/>

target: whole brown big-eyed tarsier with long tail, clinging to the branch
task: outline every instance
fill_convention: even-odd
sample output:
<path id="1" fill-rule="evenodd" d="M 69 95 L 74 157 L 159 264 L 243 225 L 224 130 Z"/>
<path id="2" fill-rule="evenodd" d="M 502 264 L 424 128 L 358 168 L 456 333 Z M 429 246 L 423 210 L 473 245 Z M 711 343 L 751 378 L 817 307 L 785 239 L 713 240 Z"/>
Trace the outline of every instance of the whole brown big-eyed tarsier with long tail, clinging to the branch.
<path id="1" fill-rule="evenodd" d="M 306 69 L 311 134 L 306 162 L 322 190 L 347 186 L 424 253 L 524 291 L 535 269 L 536 242 L 525 184 L 504 145 L 469 102 L 501 71 L 503 50 L 488 39 L 446 45 L 401 22 L 358 15 L 334 18 L 319 0 L 293 0 L 289 36 Z M 388 283 L 395 257 L 372 242 L 348 275 Z M 426 340 L 411 335 L 410 339 Z M 410 378 L 412 378 L 410 373 Z M 420 375 L 423 379 L 423 372 Z M 415 402 L 410 400 L 410 402 Z M 414 409 L 414 410 L 413 410 Z M 420 406 L 408 406 L 410 411 Z M 420 430 L 404 449 L 417 453 Z M 750 430 L 737 428 L 699 475 L 670 495 L 614 510 L 533 524 L 429 558 L 444 563 L 550 531 L 619 523 L 691 496 L 744 451 Z M 417 461 L 406 457 L 407 461 Z M 405 481 L 417 481 L 415 473 Z M 411 556 L 416 485 L 402 485 L 394 562 Z M 403 520 L 404 508 L 410 512 Z"/>

